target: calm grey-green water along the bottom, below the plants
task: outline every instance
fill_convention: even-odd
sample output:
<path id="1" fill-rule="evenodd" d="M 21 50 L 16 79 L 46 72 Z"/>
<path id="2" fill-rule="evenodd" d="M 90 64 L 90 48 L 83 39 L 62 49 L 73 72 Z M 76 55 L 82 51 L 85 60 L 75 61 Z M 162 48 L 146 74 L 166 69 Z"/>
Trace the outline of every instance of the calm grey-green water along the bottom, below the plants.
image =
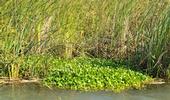
<path id="1" fill-rule="evenodd" d="M 0 86 L 0 100 L 170 100 L 170 84 L 154 85 L 143 90 L 80 92 L 42 87 L 37 84 Z"/>

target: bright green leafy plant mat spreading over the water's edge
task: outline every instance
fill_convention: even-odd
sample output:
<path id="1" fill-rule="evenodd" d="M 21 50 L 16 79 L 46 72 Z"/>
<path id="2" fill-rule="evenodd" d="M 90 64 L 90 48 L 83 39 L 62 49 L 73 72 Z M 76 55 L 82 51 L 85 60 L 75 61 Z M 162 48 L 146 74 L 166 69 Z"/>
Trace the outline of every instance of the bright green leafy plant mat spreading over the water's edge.
<path id="1" fill-rule="evenodd" d="M 141 88 L 151 80 L 150 77 L 132 71 L 125 65 L 101 59 L 54 59 L 50 65 L 44 83 L 64 89 L 118 92 L 131 87 Z"/>

